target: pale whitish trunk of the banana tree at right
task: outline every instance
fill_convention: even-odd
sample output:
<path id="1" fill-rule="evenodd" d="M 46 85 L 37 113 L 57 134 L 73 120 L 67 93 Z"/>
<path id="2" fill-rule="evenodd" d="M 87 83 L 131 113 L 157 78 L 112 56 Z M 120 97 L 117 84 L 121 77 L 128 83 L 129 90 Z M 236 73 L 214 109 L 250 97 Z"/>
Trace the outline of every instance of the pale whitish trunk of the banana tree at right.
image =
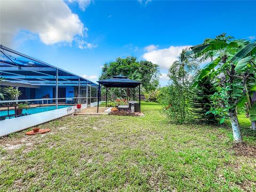
<path id="1" fill-rule="evenodd" d="M 236 110 L 230 109 L 229 116 L 230 116 L 231 126 L 232 126 L 232 130 L 233 130 L 234 141 L 241 142 L 243 140 L 243 138 L 242 138 L 242 134 L 240 131 L 240 125 L 238 122 Z"/>

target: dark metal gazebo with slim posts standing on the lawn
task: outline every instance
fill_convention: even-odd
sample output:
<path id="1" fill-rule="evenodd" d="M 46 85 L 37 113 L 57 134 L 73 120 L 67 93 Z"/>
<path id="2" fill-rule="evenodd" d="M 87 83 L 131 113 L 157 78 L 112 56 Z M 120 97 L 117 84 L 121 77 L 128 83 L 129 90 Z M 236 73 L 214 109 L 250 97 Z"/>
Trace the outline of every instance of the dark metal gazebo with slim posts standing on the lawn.
<path id="1" fill-rule="evenodd" d="M 122 75 L 114 76 L 113 78 L 104 79 L 97 82 L 99 83 L 97 113 L 99 113 L 100 89 L 102 86 L 106 87 L 106 107 L 107 107 L 109 88 L 111 87 L 133 88 L 133 100 L 135 100 L 135 87 L 139 86 L 139 106 L 140 106 L 140 84 L 142 82 L 129 79 L 126 76 L 122 76 Z"/>

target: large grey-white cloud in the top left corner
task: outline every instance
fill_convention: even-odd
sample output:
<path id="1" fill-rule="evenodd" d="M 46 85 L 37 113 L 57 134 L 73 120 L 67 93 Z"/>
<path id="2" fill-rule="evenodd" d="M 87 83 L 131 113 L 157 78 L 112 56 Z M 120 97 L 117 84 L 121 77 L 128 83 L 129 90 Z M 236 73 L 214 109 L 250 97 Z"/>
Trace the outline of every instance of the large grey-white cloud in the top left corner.
<path id="1" fill-rule="evenodd" d="M 87 28 L 63 1 L 1 1 L 0 12 L 0 39 L 6 46 L 21 30 L 38 35 L 47 45 L 87 36 Z"/>

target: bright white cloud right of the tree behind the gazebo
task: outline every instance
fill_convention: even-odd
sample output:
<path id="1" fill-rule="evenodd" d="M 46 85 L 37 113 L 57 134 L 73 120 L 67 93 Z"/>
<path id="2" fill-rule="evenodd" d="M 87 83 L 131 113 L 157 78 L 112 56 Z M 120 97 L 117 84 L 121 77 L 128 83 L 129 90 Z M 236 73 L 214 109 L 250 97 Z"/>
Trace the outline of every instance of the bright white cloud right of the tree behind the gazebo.
<path id="1" fill-rule="evenodd" d="M 148 53 L 143 54 L 143 58 L 147 61 L 151 61 L 157 65 L 161 69 L 169 69 L 172 63 L 177 60 L 182 49 L 186 47 L 191 47 L 191 45 L 186 46 L 170 46 L 167 49 L 158 49 L 154 51 L 150 51 Z"/>

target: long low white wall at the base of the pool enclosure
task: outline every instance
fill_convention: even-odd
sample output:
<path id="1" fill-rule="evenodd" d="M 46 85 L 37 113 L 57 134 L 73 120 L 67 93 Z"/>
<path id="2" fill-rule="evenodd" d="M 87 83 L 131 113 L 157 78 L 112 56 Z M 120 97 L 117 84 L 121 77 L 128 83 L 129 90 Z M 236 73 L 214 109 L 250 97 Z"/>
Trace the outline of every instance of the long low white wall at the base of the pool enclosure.
<path id="1" fill-rule="evenodd" d="M 94 102 L 93 106 L 97 106 L 97 102 Z M 93 106 L 91 105 L 91 107 Z M 87 104 L 82 104 L 81 109 L 85 109 L 85 108 L 87 108 Z M 68 111 L 68 108 L 62 108 L 62 109 L 55 109 L 55 110 L 45 111 L 42 113 L 22 116 L 18 118 L 5 119 L 4 121 L 0 121 L 0 137 L 10 133 L 28 129 L 29 127 L 33 127 L 45 122 L 52 121 L 53 119 L 70 115 L 75 112 L 75 109 L 76 109 L 76 106 L 72 106 L 70 111 Z"/>

